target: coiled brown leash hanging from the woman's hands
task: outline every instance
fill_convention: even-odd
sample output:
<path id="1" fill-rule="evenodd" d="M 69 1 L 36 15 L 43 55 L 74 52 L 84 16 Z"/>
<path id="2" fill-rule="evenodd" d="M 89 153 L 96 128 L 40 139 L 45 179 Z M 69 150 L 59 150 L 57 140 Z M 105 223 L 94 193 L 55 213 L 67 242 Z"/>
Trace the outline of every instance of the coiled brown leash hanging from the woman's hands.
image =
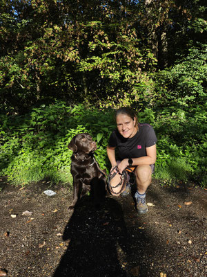
<path id="1" fill-rule="evenodd" d="M 113 170 L 115 170 L 117 168 L 118 167 L 115 166 L 114 168 L 112 168 L 111 171 L 113 171 Z M 130 173 L 133 173 L 135 175 L 135 172 L 131 168 L 129 168 L 129 167 L 125 168 L 125 170 L 123 170 L 122 173 L 119 173 L 117 171 L 117 172 L 114 172 L 113 174 L 109 174 L 108 175 L 107 184 L 108 184 L 108 190 L 110 191 L 111 194 L 120 195 L 125 190 L 126 183 L 127 183 L 127 171 L 130 172 Z M 120 180 L 119 184 L 117 184 L 116 186 L 111 186 L 110 181 L 111 181 L 111 179 L 113 177 L 115 177 L 115 175 L 117 175 L 117 173 L 119 175 L 121 175 L 121 180 Z M 134 181 L 134 183 L 135 183 L 135 181 Z M 115 193 L 113 188 L 118 188 L 119 186 L 121 186 L 121 190 L 119 191 L 119 193 Z"/>

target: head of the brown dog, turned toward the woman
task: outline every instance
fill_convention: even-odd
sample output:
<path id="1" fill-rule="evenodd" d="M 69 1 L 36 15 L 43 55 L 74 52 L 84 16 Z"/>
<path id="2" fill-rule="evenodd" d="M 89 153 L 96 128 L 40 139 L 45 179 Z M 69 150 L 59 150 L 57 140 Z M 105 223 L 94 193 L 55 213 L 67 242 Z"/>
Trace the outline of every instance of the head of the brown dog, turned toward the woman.
<path id="1" fill-rule="evenodd" d="M 97 150 L 97 144 L 88 133 L 77 134 L 68 144 L 68 148 L 73 152 L 84 152 L 86 154 Z"/>

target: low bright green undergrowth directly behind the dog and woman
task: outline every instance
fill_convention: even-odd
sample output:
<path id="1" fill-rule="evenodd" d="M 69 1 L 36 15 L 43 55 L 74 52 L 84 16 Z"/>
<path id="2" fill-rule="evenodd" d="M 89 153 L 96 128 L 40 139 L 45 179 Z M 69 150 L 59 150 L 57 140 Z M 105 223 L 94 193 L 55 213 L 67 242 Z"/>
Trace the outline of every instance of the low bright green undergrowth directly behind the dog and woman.
<path id="1" fill-rule="evenodd" d="M 88 132 L 97 141 L 99 166 L 110 169 L 106 146 L 115 128 L 113 110 L 68 107 L 64 102 L 42 105 L 26 116 L 1 116 L 1 173 L 16 184 L 49 178 L 70 182 L 71 151 L 67 145 L 75 134 Z M 206 116 L 204 110 L 169 107 L 146 109 L 139 121 L 151 123 L 157 134 L 155 177 L 195 181 L 206 186 Z"/>

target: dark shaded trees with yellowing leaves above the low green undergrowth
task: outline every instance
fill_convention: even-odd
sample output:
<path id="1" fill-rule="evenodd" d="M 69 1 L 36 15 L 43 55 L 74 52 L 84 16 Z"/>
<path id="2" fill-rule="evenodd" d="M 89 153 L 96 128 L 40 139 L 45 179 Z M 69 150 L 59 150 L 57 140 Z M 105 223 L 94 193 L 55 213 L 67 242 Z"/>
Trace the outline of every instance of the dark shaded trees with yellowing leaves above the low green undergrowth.
<path id="1" fill-rule="evenodd" d="M 171 73 L 181 78 L 177 57 L 204 44 L 206 33 L 202 0 L 3 0 L 0 11 L 4 114 L 60 99 L 101 108 L 139 102 L 143 109 L 157 99 L 157 82 Z M 165 71 L 155 84 L 158 69 Z M 197 85 L 186 80 L 183 89 L 189 87 L 197 97 Z"/>

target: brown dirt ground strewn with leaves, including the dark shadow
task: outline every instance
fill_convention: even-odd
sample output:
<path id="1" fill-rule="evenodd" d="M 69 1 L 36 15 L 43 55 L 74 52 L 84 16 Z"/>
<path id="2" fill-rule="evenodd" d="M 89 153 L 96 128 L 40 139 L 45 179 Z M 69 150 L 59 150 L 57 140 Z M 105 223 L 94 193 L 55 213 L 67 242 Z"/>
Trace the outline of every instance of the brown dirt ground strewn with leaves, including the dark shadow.
<path id="1" fill-rule="evenodd" d="M 0 268 L 8 276 L 206 276 L 206 190 L 153 180 L 148 214 L 138 217 L 131 195 L 106 197 L 98 211 L 88 196 L 68 212 L 66 187 L 21 189 L 1 179 L 0 188 Z"/>

